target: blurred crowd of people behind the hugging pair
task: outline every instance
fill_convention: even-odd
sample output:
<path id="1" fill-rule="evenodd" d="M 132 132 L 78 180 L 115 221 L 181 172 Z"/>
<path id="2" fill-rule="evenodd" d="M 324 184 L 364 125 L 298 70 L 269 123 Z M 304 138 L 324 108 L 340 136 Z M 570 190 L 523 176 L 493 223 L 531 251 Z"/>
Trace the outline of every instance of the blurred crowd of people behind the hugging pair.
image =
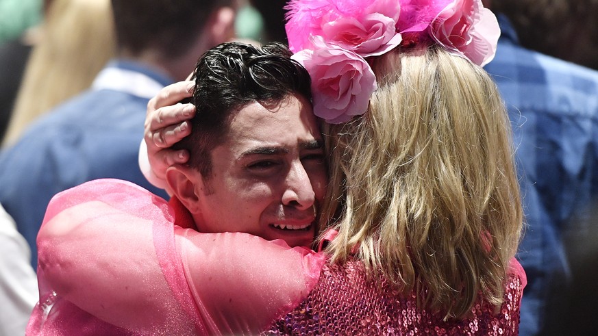
<path id="1" fill-rule="evenodd" d="M 208 14 L 178 21 L 196 27 L 177 22 L 177 2 L 0 0 L 0 335 L 22 334 L 38 300 L 49 198 L 101 177 L 151 190 L 136 165 L 147 99 L 214 44 L 286 42 L 284 0 L 191 1 Z M 598 0 L 484 4 L 501 25 L 486 70 L 509 110 L 525 206 L 520 334 L 598 335 Z"/>

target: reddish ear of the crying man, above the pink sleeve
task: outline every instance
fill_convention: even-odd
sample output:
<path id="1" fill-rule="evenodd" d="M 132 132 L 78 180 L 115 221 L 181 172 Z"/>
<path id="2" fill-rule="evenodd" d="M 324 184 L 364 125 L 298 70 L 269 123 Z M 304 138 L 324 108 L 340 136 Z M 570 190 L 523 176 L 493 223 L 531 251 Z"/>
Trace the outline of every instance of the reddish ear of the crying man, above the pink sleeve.
<path id="1" fill-rule="evenodd" d="M 201 209 L 201 198 L 198 193 L 203 190 L 201 174 L 189 166 L 176 164 L 166 169 L 166 183 L 181 203 L 191 214 Z"/>

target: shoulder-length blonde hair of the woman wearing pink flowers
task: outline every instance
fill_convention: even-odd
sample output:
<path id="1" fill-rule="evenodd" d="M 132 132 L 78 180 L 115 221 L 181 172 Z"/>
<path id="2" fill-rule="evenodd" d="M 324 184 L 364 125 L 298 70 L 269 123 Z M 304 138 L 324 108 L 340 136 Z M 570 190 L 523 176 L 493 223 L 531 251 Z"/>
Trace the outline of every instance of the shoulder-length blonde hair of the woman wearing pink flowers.
<path id="1" fill-rule="evenodd" d="M 323 132 L 332 261 L 355 254 L 447 318 L 464 318 L 479 295 L 500 305 L 522 209 L 495 83 L 437 46 L 393 51 L 372 67 L 369 111 Z"/>

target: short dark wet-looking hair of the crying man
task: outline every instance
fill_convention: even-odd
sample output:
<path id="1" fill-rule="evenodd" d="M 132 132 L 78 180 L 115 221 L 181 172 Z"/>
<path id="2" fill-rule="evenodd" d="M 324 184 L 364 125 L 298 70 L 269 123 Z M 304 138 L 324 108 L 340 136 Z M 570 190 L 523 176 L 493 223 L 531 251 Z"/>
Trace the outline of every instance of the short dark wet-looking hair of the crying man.
<path id="1" fill-rule="evenodd" d="M 264 47 L 229 42 L 204 53 L 195 68 L 197 113 L 192 133 L 175 148 L 190 153 L 188 165 L 204 179 L 212 173 L 210 152 L 225 140 L 232 117 L 243 107 L 258 102 L 276 107 L 291 94 L 311 102 L 310 75 L 284 44 Z"/>

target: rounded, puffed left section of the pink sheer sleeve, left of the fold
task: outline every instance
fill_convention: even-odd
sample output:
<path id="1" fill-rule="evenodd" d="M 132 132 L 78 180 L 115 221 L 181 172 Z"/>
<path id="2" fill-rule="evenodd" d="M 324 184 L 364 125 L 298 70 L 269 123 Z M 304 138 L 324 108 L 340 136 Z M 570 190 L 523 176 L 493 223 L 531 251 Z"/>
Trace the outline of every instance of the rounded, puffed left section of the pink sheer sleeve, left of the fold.
<path id="1" fill-rule="evenodd" d="M 132 183 L 92 181 L 55 196 L 38 234 L 38 282 L 45 288 L 40 303 L 53 292 L 134 334 L 193 333 L 192 320 L 162 274 L 155 222 L 173 223 L 168 204 Z M 58 315 L 59 307 L 50 312 Z"/>

